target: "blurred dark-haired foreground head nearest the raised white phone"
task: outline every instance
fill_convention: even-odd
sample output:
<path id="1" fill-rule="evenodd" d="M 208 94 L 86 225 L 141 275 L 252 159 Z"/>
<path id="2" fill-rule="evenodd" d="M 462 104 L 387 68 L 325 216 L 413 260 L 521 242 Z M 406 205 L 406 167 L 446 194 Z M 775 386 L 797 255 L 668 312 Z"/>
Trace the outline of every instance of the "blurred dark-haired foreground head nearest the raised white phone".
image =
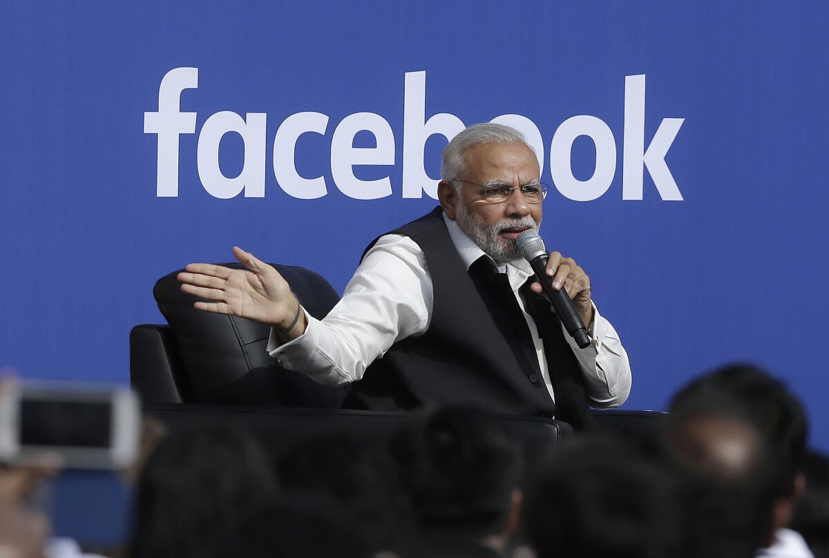
<path id="1" fill-rule="evenodd" d="M 135 489 L 130 558 L 209 558 L 252 507 L 275 493 L 269 463 L 250 434 L 182 430 L 162 440 Z"/>

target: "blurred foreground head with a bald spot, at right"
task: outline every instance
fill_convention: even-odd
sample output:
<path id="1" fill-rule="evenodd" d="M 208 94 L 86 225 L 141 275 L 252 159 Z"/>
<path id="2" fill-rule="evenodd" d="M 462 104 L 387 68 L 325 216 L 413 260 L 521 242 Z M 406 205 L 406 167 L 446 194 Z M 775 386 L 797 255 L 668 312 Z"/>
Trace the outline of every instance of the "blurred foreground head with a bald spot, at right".
<path id="1" fill-rule="evenodd" d="M 686 479 L 698 556 L 754 556 L 788 525 L 802 491 L 802 407 L 754 366 L 728 366 L 679 391 L 662 441 Z"/>

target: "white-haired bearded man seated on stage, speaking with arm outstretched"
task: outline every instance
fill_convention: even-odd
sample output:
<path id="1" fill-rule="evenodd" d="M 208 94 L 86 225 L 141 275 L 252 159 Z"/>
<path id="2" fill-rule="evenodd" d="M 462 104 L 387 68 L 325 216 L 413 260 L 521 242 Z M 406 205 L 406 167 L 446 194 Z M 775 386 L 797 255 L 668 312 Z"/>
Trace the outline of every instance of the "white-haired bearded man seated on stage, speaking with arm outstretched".
<path id="1" fill-rule="evenodd" d="M 357 408 L 481 405 L 580 428 L 592 420 L 588 400 L 621 405 L 628 357 L 592 303 L 584 269 L 558 252 L 547 265 L 589 329 L 593 342 L 581 350 L 516 249 L 521 230 L 541 225 L 545 191 L 521 133 L 501 124 L 464 130 L 444 149 L 441 177 L 440 207 L 377 239 L 322 321 L 238 247 L 250 271 L 189 264 L 182 290 L 210 301 L 198 309 L 269 323 L 272 356 L 321 383 L 351 383 L 347 403 Z"/>

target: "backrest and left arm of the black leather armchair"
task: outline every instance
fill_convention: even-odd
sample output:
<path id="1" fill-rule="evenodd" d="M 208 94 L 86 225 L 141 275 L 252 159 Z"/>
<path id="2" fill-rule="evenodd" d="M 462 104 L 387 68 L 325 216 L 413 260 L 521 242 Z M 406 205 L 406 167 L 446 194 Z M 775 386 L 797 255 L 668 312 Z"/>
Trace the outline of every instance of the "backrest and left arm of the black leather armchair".
<path id="1" fill-rule="evenodd" d="M 313 271 L 274 268 L 314 318 L 323 318 L 339 300 Z M 130 384 L 146 404 L 339 408 L 344 388 L 321 386 L 269 357 L 267 326 L 193 308 L 196 298 L 182 293 L 176 279 L 180 271 L 158 279 L 153 289 L 167 325 L 138 325 L 129 335 Z"/>

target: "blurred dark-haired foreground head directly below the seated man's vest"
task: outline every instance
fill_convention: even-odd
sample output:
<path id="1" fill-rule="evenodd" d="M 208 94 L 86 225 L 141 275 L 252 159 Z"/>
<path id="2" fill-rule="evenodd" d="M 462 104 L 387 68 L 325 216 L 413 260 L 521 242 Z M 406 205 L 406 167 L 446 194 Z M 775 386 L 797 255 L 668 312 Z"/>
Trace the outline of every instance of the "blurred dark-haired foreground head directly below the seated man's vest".
<path id="1" fill-rule="evenodd" d="M 395 440 L 413 538 L 431 556 L 463 547 L 502 551 L 518 526 L 521 454 L 486 413 L 445 408 L 416 420 Z"/>

